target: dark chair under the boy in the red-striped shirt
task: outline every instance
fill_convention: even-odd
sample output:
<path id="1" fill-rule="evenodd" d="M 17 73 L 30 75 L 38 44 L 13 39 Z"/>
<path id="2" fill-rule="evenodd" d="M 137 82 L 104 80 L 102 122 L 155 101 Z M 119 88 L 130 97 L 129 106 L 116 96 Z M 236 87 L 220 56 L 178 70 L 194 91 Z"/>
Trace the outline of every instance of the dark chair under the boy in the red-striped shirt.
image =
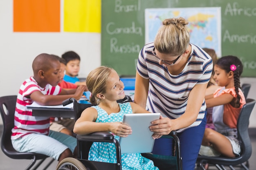
<path id="1" fill-rule="evenodd" d="M 0 97 L 0 113 L 3 121 L 3 132 L 1 137 L 1 149 L 4 154 L 12 159 L 31 159 L 31 163 L 27 166 L 25 170 L 31 169 L 36 170 L 45 159 L 47 155 L 31 153 L 31 152 L 17 152 L 11 144 L 11 129 L 14 127 L 14 113 L 16 108 L 17 95 L 3 96 Z M 36 161 L 40 160 L 37 164 Z M 46 170 L 54 161 L 52 158 L 49 163 L 44 167 Z"/>

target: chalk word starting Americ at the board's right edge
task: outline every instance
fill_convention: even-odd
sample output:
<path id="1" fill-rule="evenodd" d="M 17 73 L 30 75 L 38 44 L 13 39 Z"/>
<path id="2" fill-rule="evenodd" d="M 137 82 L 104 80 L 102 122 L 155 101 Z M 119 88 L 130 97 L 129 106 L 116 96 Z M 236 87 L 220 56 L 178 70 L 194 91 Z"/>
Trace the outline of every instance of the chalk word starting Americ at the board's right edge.
<path id="1" fill-rule="evenodd" d="M 238 43 L 251 43 L 251 44 L 256 44 L 256 35 L 230 35 L 228 30 L 225 30 L 224 35 L 223 35 L 223 42 L 238 42 Z"/>

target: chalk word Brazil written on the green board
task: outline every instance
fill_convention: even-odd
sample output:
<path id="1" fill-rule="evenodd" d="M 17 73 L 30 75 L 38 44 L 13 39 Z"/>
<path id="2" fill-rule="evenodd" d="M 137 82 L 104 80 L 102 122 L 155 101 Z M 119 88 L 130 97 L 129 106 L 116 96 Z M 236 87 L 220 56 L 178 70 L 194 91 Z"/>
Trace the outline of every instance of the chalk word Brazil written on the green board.
<path id="1" fill-rule="evenodd" d="M 133 12 L 140 11 L 140 0 L 136 4 L 122 4 L 122 0 L 115 0 L 115 12 Z"/>

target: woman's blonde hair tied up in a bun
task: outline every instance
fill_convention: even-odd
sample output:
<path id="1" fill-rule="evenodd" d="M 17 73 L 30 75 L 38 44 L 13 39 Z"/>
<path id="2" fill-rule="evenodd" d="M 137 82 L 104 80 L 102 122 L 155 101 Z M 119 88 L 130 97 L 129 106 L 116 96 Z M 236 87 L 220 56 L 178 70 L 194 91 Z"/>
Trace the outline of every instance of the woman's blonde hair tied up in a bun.
<path id="1" fill-rule="evenodd" d="M 187 24 L 189 22 L 182 17 L 165 19 L 155 37 L 155 49 L 173 56 L 182 55 L 189 46 Z"/>

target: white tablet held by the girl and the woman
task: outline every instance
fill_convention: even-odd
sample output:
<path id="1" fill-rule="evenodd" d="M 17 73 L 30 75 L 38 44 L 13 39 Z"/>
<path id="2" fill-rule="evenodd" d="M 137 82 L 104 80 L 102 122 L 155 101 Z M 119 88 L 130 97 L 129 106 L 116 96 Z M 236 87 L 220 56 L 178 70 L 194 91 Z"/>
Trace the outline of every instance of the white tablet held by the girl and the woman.
<path id="1" fill-rule="evenodd" d="M 133 113 L 124 115 L 123 124 L 132 128 L 128 137 L 120 137 L 121 154 L 152 152 L 155 140 L 149 130 L 151 121 L 157 120 L 160 113 Z"/>

